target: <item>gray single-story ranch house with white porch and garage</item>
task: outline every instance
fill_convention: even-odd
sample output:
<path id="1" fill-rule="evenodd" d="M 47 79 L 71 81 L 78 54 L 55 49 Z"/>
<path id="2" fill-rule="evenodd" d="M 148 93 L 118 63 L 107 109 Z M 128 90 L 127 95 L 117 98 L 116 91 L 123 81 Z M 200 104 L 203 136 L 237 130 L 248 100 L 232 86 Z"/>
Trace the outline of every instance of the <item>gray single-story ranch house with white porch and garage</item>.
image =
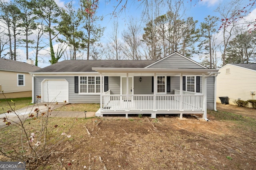
<path id="1" fill-rule="evenodd" d="M 203 114 L 216 109 L 216 75 L 175 52 L 156 60 L 66 60 L 30 73 L 40 102 L 100 103 L 104 114 Z"/>

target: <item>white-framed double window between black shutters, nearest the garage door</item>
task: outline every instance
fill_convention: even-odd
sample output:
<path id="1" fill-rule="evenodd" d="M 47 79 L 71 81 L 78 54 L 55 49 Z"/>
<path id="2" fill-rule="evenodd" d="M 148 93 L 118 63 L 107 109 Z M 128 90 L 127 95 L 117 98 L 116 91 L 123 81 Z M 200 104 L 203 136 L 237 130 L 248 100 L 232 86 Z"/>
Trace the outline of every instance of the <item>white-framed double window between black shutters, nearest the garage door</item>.
<path id="1" fill-rule="evenodd" d="M 99 94 L 100 77 L 99 76 L 80 76 L 79 93 Z"/>

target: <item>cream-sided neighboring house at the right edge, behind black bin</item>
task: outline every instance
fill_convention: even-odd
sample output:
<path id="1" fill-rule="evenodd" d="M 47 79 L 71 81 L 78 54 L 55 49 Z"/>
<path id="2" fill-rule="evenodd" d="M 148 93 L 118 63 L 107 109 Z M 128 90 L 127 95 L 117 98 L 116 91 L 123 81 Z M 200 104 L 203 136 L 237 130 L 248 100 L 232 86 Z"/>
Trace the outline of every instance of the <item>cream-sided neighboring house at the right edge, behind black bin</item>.
<path id="1" fill-rule="evenodd" d="M 256 100 L 256 64 L 226 64 L 218 72 L 216 102 L 222 96 L 232 105 L 234 100 Z"/>

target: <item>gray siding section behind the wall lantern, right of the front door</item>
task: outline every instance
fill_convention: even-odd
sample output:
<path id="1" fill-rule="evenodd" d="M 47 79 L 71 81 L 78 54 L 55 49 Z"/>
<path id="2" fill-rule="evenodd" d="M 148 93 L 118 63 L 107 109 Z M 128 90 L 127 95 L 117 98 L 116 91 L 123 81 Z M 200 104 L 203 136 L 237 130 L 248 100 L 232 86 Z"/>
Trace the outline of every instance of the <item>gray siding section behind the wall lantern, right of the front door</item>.
<path id="1" fill-rule="evenodd" d="M 134 77 L 134 94 L 154 94 L 152 93 L 152 76 L 142 76 L 142 81 L 139 81 L 140 76 Z"/>

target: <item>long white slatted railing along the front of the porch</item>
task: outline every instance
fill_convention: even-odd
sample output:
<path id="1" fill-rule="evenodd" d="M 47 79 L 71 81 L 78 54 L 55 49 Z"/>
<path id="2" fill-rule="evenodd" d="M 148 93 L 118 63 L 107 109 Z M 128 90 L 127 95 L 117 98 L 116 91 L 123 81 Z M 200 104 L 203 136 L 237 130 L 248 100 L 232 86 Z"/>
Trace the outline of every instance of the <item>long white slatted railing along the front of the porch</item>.
<path id="1" fill-rule="evenodd" d="M 202 111 L 203 106 L 203 94 L 185 94 L 182 100 L 177 94 L 102 95 L 102 111 Z"/>

